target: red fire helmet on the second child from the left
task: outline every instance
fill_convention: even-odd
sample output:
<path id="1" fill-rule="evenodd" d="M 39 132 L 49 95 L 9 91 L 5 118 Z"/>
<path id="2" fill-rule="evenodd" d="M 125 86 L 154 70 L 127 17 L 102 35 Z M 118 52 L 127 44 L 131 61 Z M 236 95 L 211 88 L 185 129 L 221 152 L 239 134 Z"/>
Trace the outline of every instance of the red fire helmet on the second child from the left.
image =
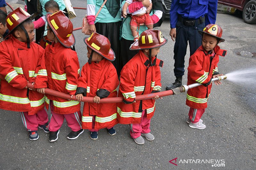
<path id="1" fill-rule="evenodd" d="M 62 11 L 53 14 L 48 12 L 45 16 L 48 25 L 60 43 L 67 48 L 72 48 L 76 44 L 76 40 L 72 33 L 73 24 L 70 19 L 68 19 Z"/>

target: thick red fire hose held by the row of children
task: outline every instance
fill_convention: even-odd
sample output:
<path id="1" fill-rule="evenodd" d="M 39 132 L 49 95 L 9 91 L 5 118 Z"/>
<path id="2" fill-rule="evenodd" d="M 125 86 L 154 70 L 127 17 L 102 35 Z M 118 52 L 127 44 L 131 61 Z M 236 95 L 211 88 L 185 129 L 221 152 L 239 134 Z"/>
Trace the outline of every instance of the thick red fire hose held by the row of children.
<path id="1" fill-rule="evenodd" d="M 35 90 L 34 86 L 31 83 L 28 83 L 28 88 Z M 46 94 L 51 94 L 51 95 L 56 96 L 56 97 L 61 97 L 61 98 L 64 98 L 64 99 L 68 99 L 68 100 L 76 100 L 75 96 L 73 98 L 71 98 L 70 95 L 68 95 L 68 94 L 65 94 L 65 93 L 62 93 L 62 92 L 57 92 L 55 90 L 51 90 L 51 89 L 48 89 L 48 88 L 45 88 L 45 93 Z M 168 91 L 157 92 L 157 93 L 142 94 L 142 95 L 136 96 L 135 100 L 137 101 L 137 100 L 153 99 L 156 95 L 158 95 L 159 97 L 169 96 L 169 95 L 173 95 L 173 91 L 168 90 Z M 82 102 L 92 103 L 93 102 L 93 97 L 84 97 Z M 105 98 L 105 99 L 100 100 L 100 103 L 119 103 L 119 102 L 123 102 L 122 97 L 109 97 L 109 98 Z"/>

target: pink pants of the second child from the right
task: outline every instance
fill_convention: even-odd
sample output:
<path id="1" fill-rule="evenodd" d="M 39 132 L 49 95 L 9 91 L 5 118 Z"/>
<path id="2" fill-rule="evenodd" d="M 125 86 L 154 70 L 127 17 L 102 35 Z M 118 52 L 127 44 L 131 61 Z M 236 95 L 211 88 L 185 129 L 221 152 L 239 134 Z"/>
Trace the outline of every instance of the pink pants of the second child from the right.
<path id="1" fill-rule="evenodd" d="M 150 132 L 150 120 L 147 119 L 147 111 L 143 110 L 141 115 L 141 122 L 130 124 L 131 131 L 130 135 L 132 138 L 136 139 L 137 137 L 140 137 L 141 133 L 149 133 Z"/>

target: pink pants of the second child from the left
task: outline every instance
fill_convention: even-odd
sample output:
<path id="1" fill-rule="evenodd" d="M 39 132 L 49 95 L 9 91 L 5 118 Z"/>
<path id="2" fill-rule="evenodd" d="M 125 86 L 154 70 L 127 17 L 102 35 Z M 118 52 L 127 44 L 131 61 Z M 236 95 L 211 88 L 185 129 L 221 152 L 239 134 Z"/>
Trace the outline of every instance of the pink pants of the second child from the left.
<path id="1" fill-rule="evenodd" d="M 50 100 L 50 108 L 51 108 L 51 119 L 49 123 L 49 130 L 52 132 L 56 132 L 60 129 L 61 125 L 64 122 L 64 119 L 66 119 L 68 127 L 73 131 L 78 131 L 82 129 L 82 114 L 81 111 L 70 113 L 70 114 L 58 114 L 53 111 L 53 103 L 52 100 Z"/>

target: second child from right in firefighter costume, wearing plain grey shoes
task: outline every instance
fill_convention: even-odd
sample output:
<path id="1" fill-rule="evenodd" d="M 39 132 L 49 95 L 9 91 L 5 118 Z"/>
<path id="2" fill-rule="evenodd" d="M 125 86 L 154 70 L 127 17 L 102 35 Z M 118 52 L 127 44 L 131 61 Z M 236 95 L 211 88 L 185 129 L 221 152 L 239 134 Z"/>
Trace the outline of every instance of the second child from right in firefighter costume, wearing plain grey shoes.
<path id="1" fill-rule="evenodd" d="M 135 102 L 136 95 L 159 92 L 161 90 L 160 67 L 163 61 L 156 58 L 159 49 L 167 43 L 161 31 L 146 30 L 140 34 L 130 50 L 140 50 L 138 54 L 125 64 L 121 71 L 118 97 L 123 102 L 117 104 L 117 119 L 121 124 L 130 124 L 131 137 L 137 144 L 144 144 L 144 139 L 152 141 L 155 137 L 150 133 L 150 119 L 155 112 L 154 99 Z"/>

